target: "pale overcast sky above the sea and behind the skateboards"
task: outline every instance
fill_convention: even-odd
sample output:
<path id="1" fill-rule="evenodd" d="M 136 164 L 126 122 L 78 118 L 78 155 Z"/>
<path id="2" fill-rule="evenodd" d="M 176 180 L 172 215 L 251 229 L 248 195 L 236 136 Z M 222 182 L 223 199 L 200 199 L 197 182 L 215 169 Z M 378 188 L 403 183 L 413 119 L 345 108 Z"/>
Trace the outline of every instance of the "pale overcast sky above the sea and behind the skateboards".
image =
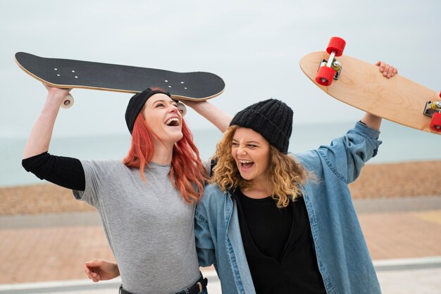
<path id="1" fill-rule="evenodd" d="M 27 136 L 46 90 L 15 65 L 37 56 L 214 72 L 225 92 L 211 100 L 229 113 L 265 98 L 294 109 L 294 123 L 358 120 L 362 113 L 324 94 L 299 60 L 332 36 L 344 51 L 441 89 L 441 1 L 2 1 L 0 136 Z M 72 91 L 55 136 L 122 134 L 130 94 Z M 193 128 L 209 127 L 190 112 Z"/>

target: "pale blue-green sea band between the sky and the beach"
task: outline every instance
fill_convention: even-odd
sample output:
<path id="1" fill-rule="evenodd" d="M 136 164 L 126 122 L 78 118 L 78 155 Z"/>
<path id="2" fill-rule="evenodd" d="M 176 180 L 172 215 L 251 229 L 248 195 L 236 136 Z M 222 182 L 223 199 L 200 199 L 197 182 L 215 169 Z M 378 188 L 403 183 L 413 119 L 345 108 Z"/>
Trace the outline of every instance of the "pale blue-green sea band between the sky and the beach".
<path id="1" fill-rule="evenodd" d="M 328 145 L 344 135 L 354 122 L 294 125 L 290 152 L 299 153 Z M 222 138 L 217 129 L 194 129 L 194 141 L 201 158 L 213 155 L 216 143 Z M 43 184 L 26 172 L 21 159 L 27 138 L 0 137 L 0 186 L 25 186 Z M 441 160 L 441 135 L 421 132 L 383 120 L 378 155 L 368 164 Z M 49 153 L 85 160 L 123 159 L 130 147 L 130 135 L 59 136 L 51 140 Z M 434 175 L 439 179 L 439 175 Z M 428 179 L 433 180 L 433 179 Z"/>

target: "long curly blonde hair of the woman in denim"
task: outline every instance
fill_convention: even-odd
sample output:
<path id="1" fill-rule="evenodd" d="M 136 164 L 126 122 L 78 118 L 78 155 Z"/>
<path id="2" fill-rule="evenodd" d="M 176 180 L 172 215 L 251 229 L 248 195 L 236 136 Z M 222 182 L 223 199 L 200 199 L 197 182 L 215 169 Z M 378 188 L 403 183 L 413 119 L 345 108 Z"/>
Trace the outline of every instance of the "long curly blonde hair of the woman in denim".
<path id="1" fill-rule="evenodd" d="M 222 191 L 228 191 L 235 187 L 250 188 L 251 181 L 240 176 L 235 159 L 232 157 L 232 138 L 235 135 L 237 125 L 228 127 L 223 139 L 216 146 L 213 167 L 213 175 L 210 183 L 217 184 Z M 287 207 L 290 200 L 296 200 L 302 196 L 300 186 L 309 177 L 302 165 L 291 155 L 283 154 L 270 144 L 270 176 L 271 198 L 277 202 L 277 207 Z"/>

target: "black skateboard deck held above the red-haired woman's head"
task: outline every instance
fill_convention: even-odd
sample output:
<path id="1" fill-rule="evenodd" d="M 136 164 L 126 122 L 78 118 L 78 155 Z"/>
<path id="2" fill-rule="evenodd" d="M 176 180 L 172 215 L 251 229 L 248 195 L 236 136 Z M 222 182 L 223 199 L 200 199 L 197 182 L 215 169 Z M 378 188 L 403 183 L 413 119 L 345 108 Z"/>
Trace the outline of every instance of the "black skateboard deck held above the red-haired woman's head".
<path id="1" fill-rule="evenodd" d="M 210 72 L 172 72 L 82 60 L 42 58 L 25 52 L 15 53 L 15 62 L 35 79 L 58 88 L 139 93 L 149 87 L 161 87 L 173 98 L 196 101 L 216 97 L 225 88 L 223 79 Z"/>

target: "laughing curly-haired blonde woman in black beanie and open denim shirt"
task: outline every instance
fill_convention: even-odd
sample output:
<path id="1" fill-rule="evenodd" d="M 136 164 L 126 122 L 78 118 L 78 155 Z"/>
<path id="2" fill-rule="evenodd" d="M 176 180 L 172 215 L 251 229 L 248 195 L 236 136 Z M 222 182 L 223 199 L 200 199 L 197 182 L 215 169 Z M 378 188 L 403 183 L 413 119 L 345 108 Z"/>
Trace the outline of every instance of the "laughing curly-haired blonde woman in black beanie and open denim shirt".
<path id="1" fill-rule="evenodd" d="M 381 118 L 293 155 L 292 117 L 275 99 L 233 117 L 195 212 L 199 264 L 214 265 L 222 293 L 380 293 L 347 185 L 376 155 Z"/>

